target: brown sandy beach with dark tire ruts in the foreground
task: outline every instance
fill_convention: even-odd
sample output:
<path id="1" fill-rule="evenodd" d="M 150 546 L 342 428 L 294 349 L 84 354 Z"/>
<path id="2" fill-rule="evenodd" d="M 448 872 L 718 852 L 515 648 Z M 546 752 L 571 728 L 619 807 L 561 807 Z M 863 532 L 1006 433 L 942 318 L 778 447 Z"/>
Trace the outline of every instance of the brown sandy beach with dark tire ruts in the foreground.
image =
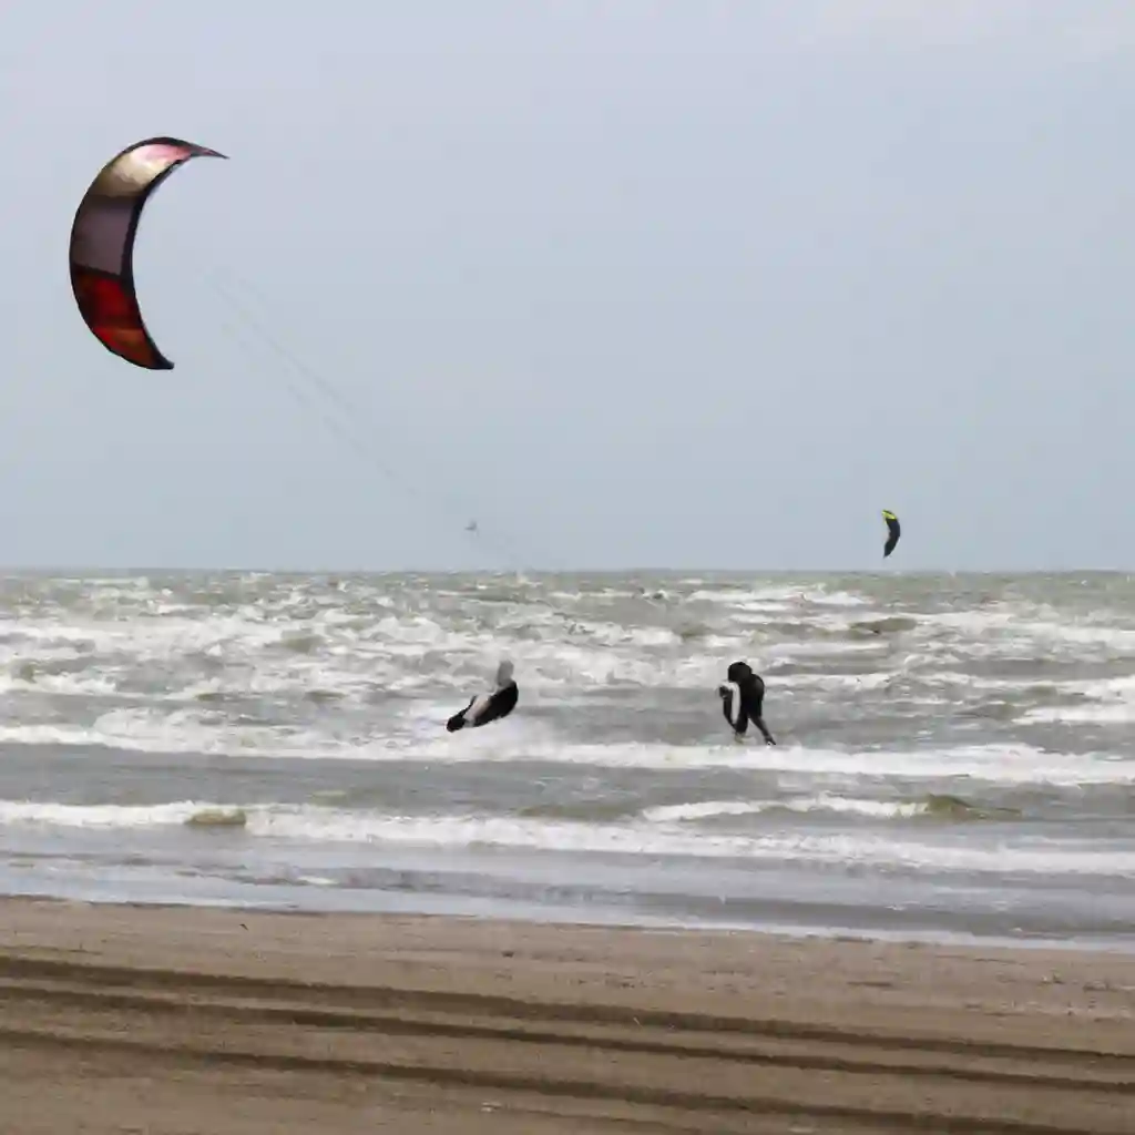
<path id="1" fill-rule="evenodd" d="M 1135 1133 L 1135 958 L 0 906 L 5 1135 Z"/>

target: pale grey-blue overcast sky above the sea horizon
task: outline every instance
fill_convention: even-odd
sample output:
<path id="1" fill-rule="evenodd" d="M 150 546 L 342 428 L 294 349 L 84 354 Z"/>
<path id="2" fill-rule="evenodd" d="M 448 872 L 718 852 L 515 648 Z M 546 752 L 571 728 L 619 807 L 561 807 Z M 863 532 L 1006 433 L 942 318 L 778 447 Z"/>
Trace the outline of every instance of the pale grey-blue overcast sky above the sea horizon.
<path id="1" fill-rule="evenodd" d="M 1133 62 L 1129 0 L 6 5 L 0 562 L 1135 566 Z M 230 158 L 140 230 L 169 372 L 66 264 L 155 134 Z"/>

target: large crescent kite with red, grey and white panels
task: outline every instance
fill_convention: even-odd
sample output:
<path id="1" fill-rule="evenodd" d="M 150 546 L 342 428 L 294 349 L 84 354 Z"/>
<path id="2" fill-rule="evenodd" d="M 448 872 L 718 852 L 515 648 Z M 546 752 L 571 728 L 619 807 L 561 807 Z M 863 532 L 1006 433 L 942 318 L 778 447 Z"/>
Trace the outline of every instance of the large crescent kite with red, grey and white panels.
<path id="1" fill-rule="evenodd" d="M 225 154 L 180 138 L 145 138 L 116 154 L 83 195 L 72 224 L 72 291 L 83 321 L 112 354 L 146 370 L 174 364 L 150 338 L 134 291 L 134 237 L 155 188 L 192 158 Z"/>

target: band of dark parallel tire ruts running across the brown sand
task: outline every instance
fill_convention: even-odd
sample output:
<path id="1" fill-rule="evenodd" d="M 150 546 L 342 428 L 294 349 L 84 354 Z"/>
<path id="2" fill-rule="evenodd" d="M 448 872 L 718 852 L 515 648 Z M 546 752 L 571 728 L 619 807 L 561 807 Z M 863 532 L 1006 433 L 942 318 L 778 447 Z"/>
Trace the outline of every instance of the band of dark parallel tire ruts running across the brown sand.
<path id="1" fill-rule="evenodd" d="M 860 1130 L 1130 1135 L 1135 1058 L 592 1001 L 0 957 L 6 1044 Z M 684 1124 L 683 1124 L 684 1126 Z"/>

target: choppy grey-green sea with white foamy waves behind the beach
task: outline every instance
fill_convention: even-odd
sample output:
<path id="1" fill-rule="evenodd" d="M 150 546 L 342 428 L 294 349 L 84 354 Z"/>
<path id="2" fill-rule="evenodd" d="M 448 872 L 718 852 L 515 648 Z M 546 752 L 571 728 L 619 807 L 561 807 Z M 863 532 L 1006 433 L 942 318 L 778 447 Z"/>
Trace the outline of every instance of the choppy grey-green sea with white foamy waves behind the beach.
<path id="1" fill-rule="evenodd" d="M 10 574 L 0 681 L 9 894 L 1135 943 L 1126 574 Z"/>

